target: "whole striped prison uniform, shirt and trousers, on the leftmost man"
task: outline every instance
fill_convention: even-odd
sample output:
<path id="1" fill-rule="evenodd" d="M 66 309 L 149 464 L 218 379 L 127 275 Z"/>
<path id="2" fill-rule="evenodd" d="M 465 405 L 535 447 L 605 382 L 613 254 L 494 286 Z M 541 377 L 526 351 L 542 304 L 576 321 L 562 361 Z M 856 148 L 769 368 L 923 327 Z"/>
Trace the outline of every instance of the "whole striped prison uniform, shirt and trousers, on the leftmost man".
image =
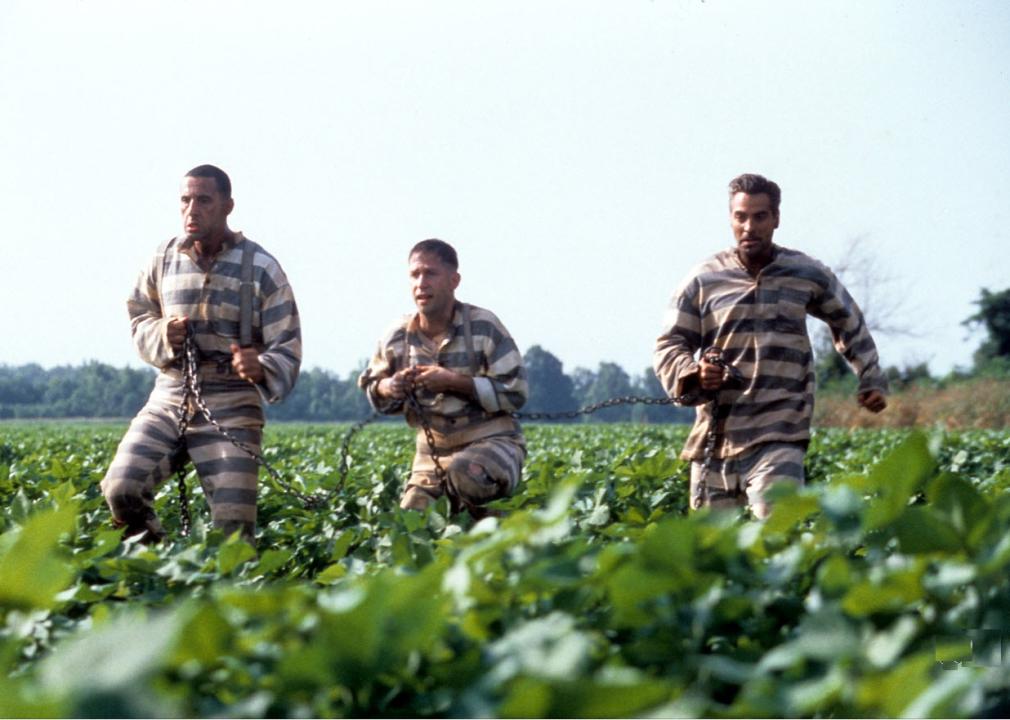
<path id="1" fill-rule="evenodd" d="M 251 341 L 265 380 L 241 380 L 231 367 L 231 343 L 239 341 L 241 259 L 252 250 Z M 181 352 L 168 341 L 168 321 L 189 317 L 200 357 L 201 391 L 215 419 L 236 439 L 259 452 L 264 425 L 262 400 L 278 402 L 295 385 L 301 366 L 298 308 L 278 262 L 259 244 L 235 233 L 200 268 L 192 242 L 173 238 L 156 252 L 127 301 L 133 342 L 140 357 L 159 368 L 146 405 L 130 423 L 102 481 L 114 521 L 129 531 L 161 536 L 154 512 L 159 484 L 173 472 L 183 398 Z M 185 445 L 210 505 L 215 527 L 235 529 L 251 541 L 256 530 L 256 461 L 196 412 Z"/>

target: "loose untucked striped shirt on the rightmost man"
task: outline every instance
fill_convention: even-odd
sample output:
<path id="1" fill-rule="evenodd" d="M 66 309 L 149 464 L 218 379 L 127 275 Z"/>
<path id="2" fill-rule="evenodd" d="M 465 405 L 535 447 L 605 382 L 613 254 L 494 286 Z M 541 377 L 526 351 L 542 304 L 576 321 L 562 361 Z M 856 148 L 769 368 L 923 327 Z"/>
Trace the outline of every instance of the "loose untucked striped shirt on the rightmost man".
<path id="1" fill-rule="evenodd" d="M 684 459 L 704 457 L 711 396 L 700 391 L 695 355 L 710 346 L 721 348 L 742 376 L 742 382 L 718 392 L 715 457 L 763 442 L 810 438 L 814 369 L 808 314 L 827 323 L 835 349 L 860 379 L 858 392 L 887 392 L 863 313 L 834 274 L 803 252 L 779 245 L 773 252 L 771 264 L 752 277 L 735 249 L 723 250 L 695 268 L 670 303 L 652 367 L 670 397 L 697 406 Z"/>

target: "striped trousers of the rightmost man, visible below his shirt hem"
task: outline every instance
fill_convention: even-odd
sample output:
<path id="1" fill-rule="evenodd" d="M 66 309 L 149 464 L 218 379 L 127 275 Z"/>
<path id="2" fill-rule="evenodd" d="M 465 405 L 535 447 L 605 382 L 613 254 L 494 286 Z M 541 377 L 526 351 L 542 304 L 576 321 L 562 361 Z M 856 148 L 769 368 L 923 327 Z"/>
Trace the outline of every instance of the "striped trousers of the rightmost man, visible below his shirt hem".
<path id="1" fill-rule="evenodd" d="M 768 517 L 765 499 L 776 483 L 804 484 L 802 442 L 765 442 L 732 457 L 713 459 L 704 485 L 704 464 L 691 464 L 691 509 L 730 508 L 749 505 L 754 516 Z"/>

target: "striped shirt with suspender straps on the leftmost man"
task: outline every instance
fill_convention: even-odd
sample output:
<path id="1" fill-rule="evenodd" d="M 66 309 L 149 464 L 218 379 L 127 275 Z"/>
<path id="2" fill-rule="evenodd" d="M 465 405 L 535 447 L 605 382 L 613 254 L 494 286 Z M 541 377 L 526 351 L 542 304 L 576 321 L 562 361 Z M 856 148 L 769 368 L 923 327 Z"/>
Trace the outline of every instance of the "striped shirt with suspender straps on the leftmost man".
<path id="1" fill-rule="evenodd" d="M 298 379 L 302 358 L 298 306 L 278 262 L 240 232 L 225 240 L 206 272 L 197 264 L 191 241 L 174 237 L 164 243 L 141 271 L 126 307 L 133 344 L 145 363 L 163 371 L 178 366 L 182 353 L 169 344 L 168 322 L 185 315 L 200 357 L 230 366 L 230 345 L 238 343 L 238 298 L 246 242 L 255 249 L 252 345 L 260 353 L 265 376 L 258 389 L 273 403 L 290 393 Z"/>

